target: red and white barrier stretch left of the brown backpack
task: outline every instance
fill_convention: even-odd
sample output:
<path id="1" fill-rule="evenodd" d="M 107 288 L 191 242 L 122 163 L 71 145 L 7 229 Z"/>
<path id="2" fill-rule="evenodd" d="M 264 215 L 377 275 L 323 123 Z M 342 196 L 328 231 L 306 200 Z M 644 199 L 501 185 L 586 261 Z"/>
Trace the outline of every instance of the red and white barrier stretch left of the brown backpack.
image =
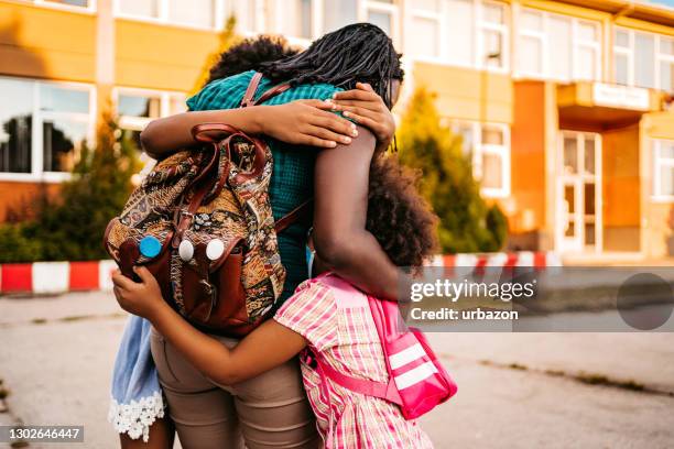
<path id="1" fill-rule="evenodd" d="M 111 291 L 113 261 L 35 262 L 0 265 L 0 294 Z"/>

